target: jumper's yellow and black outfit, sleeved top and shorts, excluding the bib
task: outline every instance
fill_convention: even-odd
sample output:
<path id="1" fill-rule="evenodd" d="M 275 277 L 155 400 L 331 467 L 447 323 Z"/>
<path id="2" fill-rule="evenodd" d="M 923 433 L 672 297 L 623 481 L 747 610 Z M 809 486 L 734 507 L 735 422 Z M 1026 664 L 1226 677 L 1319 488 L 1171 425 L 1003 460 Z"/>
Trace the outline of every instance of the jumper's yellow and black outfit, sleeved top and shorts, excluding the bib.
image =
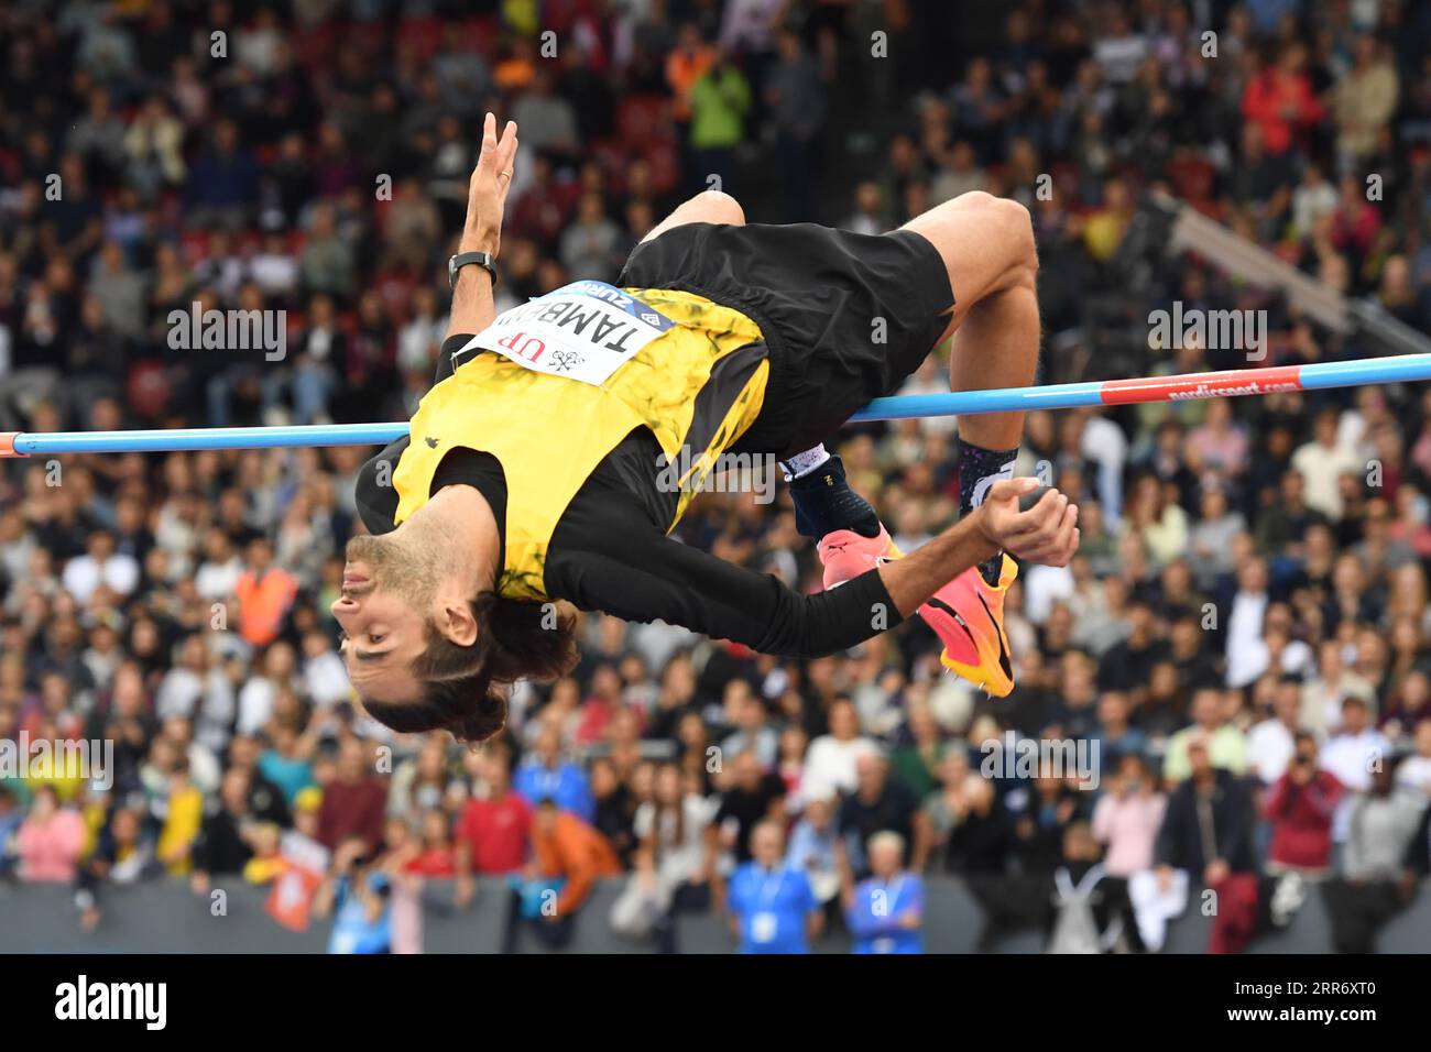
<path id="1" fill-rule="evenodd" d="M 727 451 L 809 448 L 826 437 L 809 438 L 810 428 L 830 418 L 833 429 L 896 389 L 933 346 L 939 313 L 952 303 L 943 265 L 917 235 L 694 226 L 703 236 L 723 232 L 723 243 L 693 246 L 691 228 L 677 228 L 628 260 L 622 288 L 675 325 L 600 386 L 489 351 L 462 354 L 471 336 L 451 336 L 411 438 L 361 472 L 359 514 L 385 532 L 444 485 L 472 485 L 501 530 L 502 595 L 660 618 L 766 653 L 854 646 L 899 621 L 879 574 L 804 597 L 698 551 L 668 537 L 693 488 L 663 477 L 671 462 L 708 465 Z M 746 232 L 760 229 L 767 233 L 750 240 Z M 826 268 L 807 260 L 816 276 L 801 285 L 798 258 L 813 246 Z M 741 283 L 736 265 L 757 249 L 777 273 L 751 268 L 753 285 Z M 774 295 L 777 275 L 786 292 Z M 843 321 L 820 313 L 829 295 Z M 893 346 L 867 351 L 880 312 Z"/>

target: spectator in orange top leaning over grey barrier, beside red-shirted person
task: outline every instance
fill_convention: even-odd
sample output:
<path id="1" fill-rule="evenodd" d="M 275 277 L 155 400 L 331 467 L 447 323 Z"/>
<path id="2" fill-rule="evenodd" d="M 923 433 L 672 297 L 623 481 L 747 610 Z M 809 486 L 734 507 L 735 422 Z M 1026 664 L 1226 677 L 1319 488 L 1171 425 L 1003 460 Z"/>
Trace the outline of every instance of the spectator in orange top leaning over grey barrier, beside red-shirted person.
<path id="1" fill-rule="evenodd" d="M 620 873 L 621 859 L 607 837 L 551 797 L 542 799 L 532 822 L 531 860 L 512 879 L 502 952 L 517 952 L 524 922 L 548 949 L 570 943 L 595 882 Z"/>

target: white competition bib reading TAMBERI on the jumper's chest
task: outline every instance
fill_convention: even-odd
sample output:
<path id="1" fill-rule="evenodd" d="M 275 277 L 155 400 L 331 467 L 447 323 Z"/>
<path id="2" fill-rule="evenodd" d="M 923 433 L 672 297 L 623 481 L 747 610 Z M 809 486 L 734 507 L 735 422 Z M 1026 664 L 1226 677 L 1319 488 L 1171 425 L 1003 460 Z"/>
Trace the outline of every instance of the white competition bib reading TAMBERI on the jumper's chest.
<path id="1" fill-rule="evenodd" d="M 495 351 L 522 368 L 600 386 L 673 325 L 614 285 L 580 281 L 504 311 L 454 358 Z"/>

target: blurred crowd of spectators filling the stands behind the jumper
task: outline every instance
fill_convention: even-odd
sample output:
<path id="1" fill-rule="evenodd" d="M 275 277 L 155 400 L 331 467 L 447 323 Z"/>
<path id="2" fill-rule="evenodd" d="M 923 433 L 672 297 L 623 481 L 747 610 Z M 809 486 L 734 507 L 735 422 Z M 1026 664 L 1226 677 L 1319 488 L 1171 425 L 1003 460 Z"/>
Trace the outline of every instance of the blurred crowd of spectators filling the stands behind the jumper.
<path id="1" fill-rule="evenodd" d="M 1375 351 L 1216 259 L 1133 281 L 1162 190 L 1431 332 L 1431 9 L 1398 0 L 17 0 L 0 42 L 0 429 L 408 417 L 488 109 L 522 139 L 499 309 L 614 279 L 708 186 L 866 232 L 982 189 L 1033 213 L 1047 378 L 1109 378 L 1099 299 L 1265 311 L 1258 365 Z M 286 352 L 176 348 L 192 308 L 282 311 Z M 942 389 L 936 352 L 906 394 Z M 957 514 L 953 428 L 837 442 L 906 551 Z M 301 837 L 341 949 L 411 942 L 405 889 L 475 875 L 511 875 L 512 940 L 561 943 L 630 873 L 591 923 L 665 949 L 726 909 L 747 949 L 829 922 L 917 950 L 927 872 L 1072 875 L 1070 903 L 1096 866 L 1153 949 L 1189 887 L 1286 875 L 1365 949 L 1427 872 L 1431 391 L 1032 414 L 1020 474 L 1083 544 L 1010 591 L 1007 700 L 917 621 L 797 663 L 588 615 L 479 751 L 349 704 L 325 611 L 368 455 L 0 462 L 0 741 L 114 744 L 107 789 L 0 777 L 0 875 L 76 885 L 93 925 L 107 885 L 272 882 Z M 784 495 L 704 494 L 680 535 L 819 587 Z M 1093 777 L 1010 776 L 1022 739 L 1096 746 Z"/>

